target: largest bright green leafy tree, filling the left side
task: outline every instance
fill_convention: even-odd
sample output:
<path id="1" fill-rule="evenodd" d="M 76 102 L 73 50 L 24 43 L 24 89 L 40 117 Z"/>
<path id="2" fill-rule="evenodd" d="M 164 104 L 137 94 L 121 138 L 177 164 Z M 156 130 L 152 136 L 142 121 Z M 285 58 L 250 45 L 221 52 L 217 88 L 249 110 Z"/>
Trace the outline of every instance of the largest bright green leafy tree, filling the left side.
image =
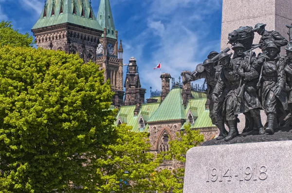
<path id="1" fill-rule="evenodd" d="M 77 55 L 0 48 L 0 192 L 86 187 L 115 136 L 112 95 L 99 66 Z"/>

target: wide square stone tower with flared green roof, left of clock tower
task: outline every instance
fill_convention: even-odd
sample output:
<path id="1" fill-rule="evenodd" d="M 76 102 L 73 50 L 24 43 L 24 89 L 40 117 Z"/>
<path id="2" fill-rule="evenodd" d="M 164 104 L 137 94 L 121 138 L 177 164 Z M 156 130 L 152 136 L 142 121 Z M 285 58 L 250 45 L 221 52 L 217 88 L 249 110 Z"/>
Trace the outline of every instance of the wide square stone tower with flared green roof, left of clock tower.
<path id="1" fill-rule="evenodd" d="M 37 47 L 78 52 L 85 62 L 95 62 L 103 29 L 89 0 L 47 0 L 32 32 Z"/>

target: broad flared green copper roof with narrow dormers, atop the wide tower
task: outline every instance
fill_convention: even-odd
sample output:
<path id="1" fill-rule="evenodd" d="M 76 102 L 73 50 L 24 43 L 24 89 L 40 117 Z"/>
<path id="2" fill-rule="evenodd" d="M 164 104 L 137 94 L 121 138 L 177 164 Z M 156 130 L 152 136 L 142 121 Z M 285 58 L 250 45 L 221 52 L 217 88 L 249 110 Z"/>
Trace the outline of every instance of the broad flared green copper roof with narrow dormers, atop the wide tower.
<path id="1" fill-rule="evenodd" d="M 55 15 L 52 15 L 53 7 Z M 84 16 L 82 16 L 82 7 L 84 10 Z M 89 0 L 47 0 L 39 19 L 32 30 L 63 23 L 72 23 L 94 30 L 103 31 L 94 16 Z"/>

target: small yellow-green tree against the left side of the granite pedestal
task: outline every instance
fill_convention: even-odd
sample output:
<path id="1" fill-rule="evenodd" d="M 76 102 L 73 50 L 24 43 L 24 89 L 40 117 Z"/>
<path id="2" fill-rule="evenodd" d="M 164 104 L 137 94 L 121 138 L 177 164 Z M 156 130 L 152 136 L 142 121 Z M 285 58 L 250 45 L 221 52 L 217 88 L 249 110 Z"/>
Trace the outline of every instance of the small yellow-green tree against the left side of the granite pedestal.
<path id="1" fill-rule="evenodd" d="M 199 130 L 190 129 L 191 125 L 184 125 L 182 131 L 176 133 L 176 139 L 169 142 L 170 150 L 165 152 L 165 160 L 178 161 L 181 167 L 172 171 L 164 169 L 155 175 L 154 186 L 159 193 L 183 193 L 184 166 L 186 152 L 204 141 Z"/>

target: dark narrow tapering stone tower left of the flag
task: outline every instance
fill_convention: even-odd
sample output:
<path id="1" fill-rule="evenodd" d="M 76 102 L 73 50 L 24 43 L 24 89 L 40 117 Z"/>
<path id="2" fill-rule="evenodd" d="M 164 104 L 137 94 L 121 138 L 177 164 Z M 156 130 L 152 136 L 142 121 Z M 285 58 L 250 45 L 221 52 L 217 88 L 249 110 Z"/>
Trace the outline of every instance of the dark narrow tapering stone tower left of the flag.
<path id="1" fill-rule="evenodd" d="M 146 89 L 141 88 L 136 59 L 134 57 L 131 57 L 128 64 L 125 88 L 125 106 L 137 105 L 145 102 Z"/>

